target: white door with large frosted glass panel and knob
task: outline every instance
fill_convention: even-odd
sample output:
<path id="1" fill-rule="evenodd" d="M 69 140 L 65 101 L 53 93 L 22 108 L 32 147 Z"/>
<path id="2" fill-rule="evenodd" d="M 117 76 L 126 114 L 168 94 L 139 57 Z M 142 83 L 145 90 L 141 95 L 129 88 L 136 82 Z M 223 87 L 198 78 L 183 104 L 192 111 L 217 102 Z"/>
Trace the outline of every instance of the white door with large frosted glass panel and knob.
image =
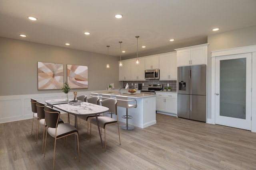
<path id="1" fill-rule="evenodd" d="M 252 53 L 216 59 L 215 123 L 251 130 Z"/>

